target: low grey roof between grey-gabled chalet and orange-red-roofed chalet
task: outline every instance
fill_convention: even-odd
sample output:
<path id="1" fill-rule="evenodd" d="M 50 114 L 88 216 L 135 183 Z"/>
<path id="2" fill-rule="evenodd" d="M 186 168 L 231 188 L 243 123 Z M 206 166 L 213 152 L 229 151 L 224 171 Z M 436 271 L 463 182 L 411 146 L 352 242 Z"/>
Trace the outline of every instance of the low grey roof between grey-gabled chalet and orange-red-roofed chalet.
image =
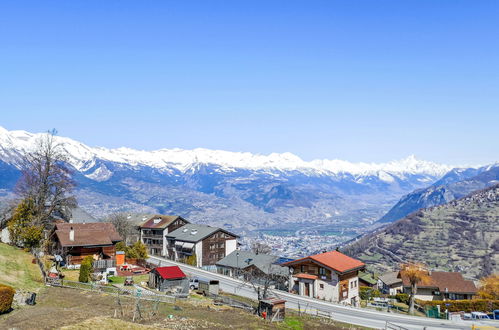
<path id="1" fill-rule="evenodd" d="M 237 255 L 239 253 L 239 256 Z M 225 266 L 237 269 L 245 269 L 251 265 L 255 265 L 265 274 L 278 274 L 287 276 L 289 274 L 288 267 L 282 267 L 275 264 L 279 257 L 268 254 L 256 254 L 252 251 L 233 251 L 231 254 L 217 262 L 217 266 Z"/>

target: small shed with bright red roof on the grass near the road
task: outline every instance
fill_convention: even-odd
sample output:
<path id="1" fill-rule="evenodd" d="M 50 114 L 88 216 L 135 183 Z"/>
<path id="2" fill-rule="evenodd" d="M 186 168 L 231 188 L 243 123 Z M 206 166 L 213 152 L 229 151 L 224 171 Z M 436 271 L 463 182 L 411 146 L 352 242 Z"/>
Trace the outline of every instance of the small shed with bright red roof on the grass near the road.
<path id="1" fill-rule="evenodd" d="M 176 294 L 189 293 L 189 279 L 178 266 L 154 268 L 149 273 L 149 287 Z"/>

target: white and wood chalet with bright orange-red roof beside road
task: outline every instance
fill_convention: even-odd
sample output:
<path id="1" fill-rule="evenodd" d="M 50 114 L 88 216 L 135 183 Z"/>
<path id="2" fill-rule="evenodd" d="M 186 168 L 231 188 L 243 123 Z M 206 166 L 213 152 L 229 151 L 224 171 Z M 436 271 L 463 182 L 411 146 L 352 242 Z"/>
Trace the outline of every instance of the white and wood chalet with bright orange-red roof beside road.
<path id="1" fill-rule="evenodd" d="M 359 303 L 359 271 L 363 262 L 330 251 L 286 262 L 290 268 L 290 292 L 345 305 Z"/>

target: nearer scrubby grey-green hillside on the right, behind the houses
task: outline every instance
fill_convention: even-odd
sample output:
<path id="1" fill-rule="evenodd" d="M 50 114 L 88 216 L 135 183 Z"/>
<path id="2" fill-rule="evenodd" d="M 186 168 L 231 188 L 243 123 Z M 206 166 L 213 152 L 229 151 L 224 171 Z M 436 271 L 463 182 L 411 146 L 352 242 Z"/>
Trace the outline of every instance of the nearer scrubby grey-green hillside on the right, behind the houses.
<path id="1" fill-rule="evenodd" d="M 499 271 L 499 185 L 413 213 L 345 247 L 380 272 L 406 261 L 467 277 Z"/>

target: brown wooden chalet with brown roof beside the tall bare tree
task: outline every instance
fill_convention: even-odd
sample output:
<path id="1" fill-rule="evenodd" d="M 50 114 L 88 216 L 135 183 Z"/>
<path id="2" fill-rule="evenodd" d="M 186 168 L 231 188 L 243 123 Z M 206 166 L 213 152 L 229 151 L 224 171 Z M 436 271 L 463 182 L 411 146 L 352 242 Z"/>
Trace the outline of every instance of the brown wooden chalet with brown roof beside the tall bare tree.
<path id="1" fill-rule="evenodd" d="M 68 265 L 79 265 L 88 255 L 94 260 L 114 260 L 116 243 L 122 239 L 111 223 L 56 223 L 51 235 L 51 253 Z"/>

